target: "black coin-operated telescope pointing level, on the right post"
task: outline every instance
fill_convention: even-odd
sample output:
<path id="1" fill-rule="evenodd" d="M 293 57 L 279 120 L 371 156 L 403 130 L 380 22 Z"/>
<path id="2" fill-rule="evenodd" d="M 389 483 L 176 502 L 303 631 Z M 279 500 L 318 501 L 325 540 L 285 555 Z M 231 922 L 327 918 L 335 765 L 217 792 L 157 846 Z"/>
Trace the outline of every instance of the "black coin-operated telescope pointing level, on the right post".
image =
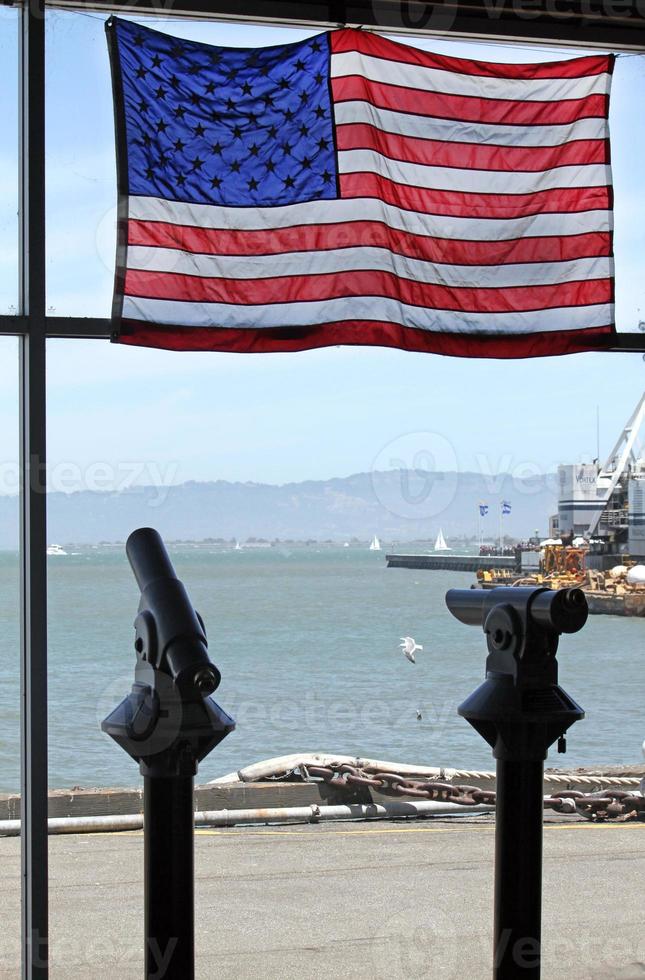
<path id="1" fill-rule="evenodd" d="M 495 980 L 540 976 L 544 760 L 584 711 L 558 685 L 562 633 L 587 621 L 581 589 L 451 589 L 446 605 L 480 626 L 488 657 L 484 683 L 459 714 L 497 760 L 495 813 Z"/>

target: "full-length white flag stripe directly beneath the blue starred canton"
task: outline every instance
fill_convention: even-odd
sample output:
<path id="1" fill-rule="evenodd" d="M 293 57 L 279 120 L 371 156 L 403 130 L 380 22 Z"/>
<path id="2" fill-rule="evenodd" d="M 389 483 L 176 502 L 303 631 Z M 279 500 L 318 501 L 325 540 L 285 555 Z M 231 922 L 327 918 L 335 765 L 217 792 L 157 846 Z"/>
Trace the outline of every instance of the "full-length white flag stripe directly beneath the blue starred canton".
<path id="1" fill-rule="evenodd" d="M 515 238 L 584 235 L 611 231 L 606 210 L 571 214 L 536 214 L 527 218 L 453 218 L 406 211 L 375 198 L 307 201 L 273 208 L 226 208 L 214 204 L 186 204 L 158 197 L 131 197 L 129 217 L 194 228 L 227 231 L 271 231 L 300 225 L 334 225 L 352 221 L 379 221 L 397 231 L 456 241 L 510 241 Z"/>

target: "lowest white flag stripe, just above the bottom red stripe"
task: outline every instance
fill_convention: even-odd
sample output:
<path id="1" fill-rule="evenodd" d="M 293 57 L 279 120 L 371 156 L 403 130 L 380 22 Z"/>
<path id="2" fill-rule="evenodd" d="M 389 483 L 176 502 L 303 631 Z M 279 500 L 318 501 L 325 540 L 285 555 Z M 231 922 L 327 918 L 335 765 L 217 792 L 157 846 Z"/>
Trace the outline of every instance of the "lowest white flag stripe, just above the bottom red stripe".
<path id="1" fill-rule="evenodd" d="M 444 333 L 526 334 L 606 327 L 613 307 L 576 306 L 530 313 L 460 313 L 407 306 L 382 296 L 352 296 L 322 302 L 240 306 L 228 303 L 187 303 L 126 296 L 123 316 L 161 324 L 223 329 L 266 329 L 373 320 Z M 357 332 L 357 339 L 360 331 Z"/>

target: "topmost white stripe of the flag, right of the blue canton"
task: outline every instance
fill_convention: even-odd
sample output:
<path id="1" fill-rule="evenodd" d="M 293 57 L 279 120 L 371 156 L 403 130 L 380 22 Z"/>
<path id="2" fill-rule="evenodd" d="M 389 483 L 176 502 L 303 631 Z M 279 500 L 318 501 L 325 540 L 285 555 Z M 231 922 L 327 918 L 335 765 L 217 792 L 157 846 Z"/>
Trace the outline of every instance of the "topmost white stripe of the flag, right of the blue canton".
<path id="1" fill-rule="evenodd" d="M 582 78 L 491 78 L 374 58 L 358 51 L 332 54 L 332 78 L 350 75 L 368 78 L 383 85 L 400 85 L 425 92 L 518 102 L 558 102 L 563 99 L 584 99 L 589 95 L 604 95 L 611 77 L 604 73 Z"/>

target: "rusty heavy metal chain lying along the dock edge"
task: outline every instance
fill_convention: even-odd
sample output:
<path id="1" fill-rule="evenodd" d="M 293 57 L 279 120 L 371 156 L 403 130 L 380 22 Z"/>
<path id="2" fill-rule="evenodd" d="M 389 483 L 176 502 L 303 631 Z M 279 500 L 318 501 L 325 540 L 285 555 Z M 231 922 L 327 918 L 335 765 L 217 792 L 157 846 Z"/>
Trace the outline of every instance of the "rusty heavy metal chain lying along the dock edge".
<path id="1" fill-rule="evenodd" d="M 495 806 L 494 790 L 479 789 L 477 786 L 406 778 L 395 772 L 368 772 L 348 763 L 336 766 L 308 765 L 302 768 L 308 776 L 322 779 L 330 786 L 370 786 L 386 796 L 436 800 L 456 803 L 458 806 Z M 544 809 L 555 813 L 578 813 L 593 821 L 645 820 L 645 796 L 613 789 L 603 789 L 599 793 L 567 789 L 558 796 L 545 797 Z"/>

